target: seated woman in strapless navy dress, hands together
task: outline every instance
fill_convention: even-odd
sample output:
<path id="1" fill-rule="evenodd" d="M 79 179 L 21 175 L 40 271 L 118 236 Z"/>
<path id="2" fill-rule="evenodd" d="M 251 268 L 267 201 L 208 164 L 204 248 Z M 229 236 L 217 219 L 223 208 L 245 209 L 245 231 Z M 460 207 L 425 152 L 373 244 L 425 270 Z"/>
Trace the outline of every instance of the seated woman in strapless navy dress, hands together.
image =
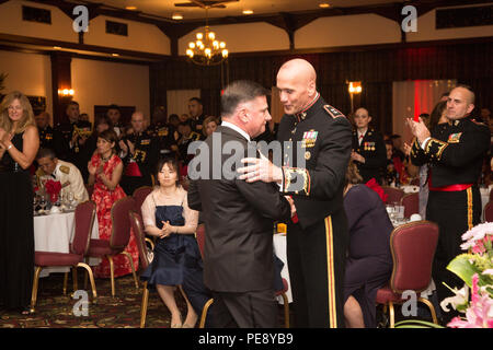
<path id="1" fill-rule="evenodd" d="M 156 175 L 159 187 L 142 203 L 145 230 L 149 235 L 157 236 L 158 242 L 154 258 L 140 278 L 158 290 L 171 312 L 172 328 L 193 328 L 202 310 L 195 312 L 180 288 L 187 306 L 182 324 L 174 300 L 174 287 L 188 282 L 191 277 L 202 276 L 203 262 L 194 236 L 198 212 L 188 208 L 186 191 L 179 185 L 177 168 L 174 159 L 161 159 Z"/>

